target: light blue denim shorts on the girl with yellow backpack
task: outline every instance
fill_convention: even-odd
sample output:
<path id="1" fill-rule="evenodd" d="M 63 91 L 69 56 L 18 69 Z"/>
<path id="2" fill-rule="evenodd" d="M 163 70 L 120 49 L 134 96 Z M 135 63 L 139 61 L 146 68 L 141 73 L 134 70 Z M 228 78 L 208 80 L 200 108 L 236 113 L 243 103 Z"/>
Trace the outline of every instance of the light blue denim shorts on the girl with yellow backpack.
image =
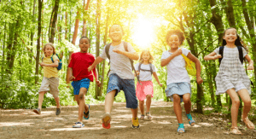
<path id="1" fill-rule="evenodd" d="M 173 94 L 181 97 L 180 102 L 183 102 L 183 95 L 189 93 L 191 95 L 191 85 L 188 82 L 171 83 L 167 85 L 166 96 L 173 101 Z"/>

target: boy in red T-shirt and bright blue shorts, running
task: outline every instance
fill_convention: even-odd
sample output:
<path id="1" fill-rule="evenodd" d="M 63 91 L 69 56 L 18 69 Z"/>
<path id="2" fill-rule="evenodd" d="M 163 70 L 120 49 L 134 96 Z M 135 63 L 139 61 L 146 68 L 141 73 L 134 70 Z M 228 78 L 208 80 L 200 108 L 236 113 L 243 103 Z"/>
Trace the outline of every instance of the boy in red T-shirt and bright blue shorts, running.
<path id="1" fill-rule="evenodd" d="M 84 127 L 84 119 L 90 118 L 90 105 L 85 105 L 85 94 L 89 90 L 90 82 L 93 82 L 92 72 L 88 72 L 88 67 L 95 61 L 95 57 L 90 53 L 87 53 L 90 48 L 90 39 L 82 37 L 79 40 L 80 52 L 73 53 L 71 55 L 71 61 L 68 65 L 69 68 L 69 80 L 73 80 L 73 94 L 75 100 L 79 105 L 79 118 L 73 125 L 73 128 Z M 96 84 L 101 85 L 101 82 L 97 79 L 98 74 L 96 68 L 93 69 L 94 76 L 96 78 Z"/>

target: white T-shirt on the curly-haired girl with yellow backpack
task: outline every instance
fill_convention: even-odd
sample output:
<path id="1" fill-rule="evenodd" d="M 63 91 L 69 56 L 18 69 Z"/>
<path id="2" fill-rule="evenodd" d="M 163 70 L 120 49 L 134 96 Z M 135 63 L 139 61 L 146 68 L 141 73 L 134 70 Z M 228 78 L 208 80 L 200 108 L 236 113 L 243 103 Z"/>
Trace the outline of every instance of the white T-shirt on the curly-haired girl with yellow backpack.
<path id="1" fill-rule="evenodd" d="M 179 48 L 180 49 L 180 48 Z M 187 56 L 190 52 L 189 49 L 181 48 L 183 51 L 183 55 Z M 172 53 L 166 50 L 161 60 L 164 60 L 171 56 Z M 170 61 L 167 65 L 167 81 L 166 84 L 171 83 L 180 83 L 180 82 L 188 82 L 190 84 L 189 74 L 186 70 L 186 61 L 184 60 L 182 55 L 175 56 L 172 61 Z"/>

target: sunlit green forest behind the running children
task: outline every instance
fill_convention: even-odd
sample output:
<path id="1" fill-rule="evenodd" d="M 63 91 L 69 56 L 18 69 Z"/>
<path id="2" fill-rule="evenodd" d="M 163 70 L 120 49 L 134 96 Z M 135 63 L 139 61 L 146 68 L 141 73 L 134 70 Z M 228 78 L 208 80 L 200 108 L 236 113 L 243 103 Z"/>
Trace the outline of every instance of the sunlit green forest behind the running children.
<path id="1" fill-rule="evenodd" d="M 89 52 L 97 57 L 111 42 L 109 26 L 119 24 L 124 28 L 123 40 L 131 43 L 137 54 L 149 49 L 154 55 L 153 64 L 164 84 L 161 88 L 154 80 L 154 101 L 169 101 L 165 94 L 166 67 L 160 67 L 160 58 L 169 49 L 166 32 L 179 29 L 185 34 L 183 47 L 201 61 L 203 84 L 190 77 L 192 107 L 196 113 L 206 113 L 204 108 L 212 107 L 213 112 L 230 115 L 230 97 L 215 95 L 218 61 L 204 61 L 203 57 L 221 45 L 226 28 L 235 27 L 247 44 L 248 55 L 256 61 L 255 10 L 255 0 L 0 0 L 0 108 L 38 106 L 43 78 L 38 63 L 45 43 L 54 43 L 57 54 L 63 55 L 59 71 L 61 106 L 76 105 L 67 65 L 72 53 L 79 51 L 79 38 L 90 38 Z M 244 62 L 245 68 L 247 64 Z M 101 103 L 106 96 L 108 60 L 97 69 L 102 86 L 90 84 L 86 103 Z M 246 72 L 256 84 L 256 70 Z M 253 107 L 255 91 L 252 85 Z M 115 101 L 125 101 L 124 94 Z M 47 94 L 43 107 L 50 106 L 55 106 L 55 100 Z"/>

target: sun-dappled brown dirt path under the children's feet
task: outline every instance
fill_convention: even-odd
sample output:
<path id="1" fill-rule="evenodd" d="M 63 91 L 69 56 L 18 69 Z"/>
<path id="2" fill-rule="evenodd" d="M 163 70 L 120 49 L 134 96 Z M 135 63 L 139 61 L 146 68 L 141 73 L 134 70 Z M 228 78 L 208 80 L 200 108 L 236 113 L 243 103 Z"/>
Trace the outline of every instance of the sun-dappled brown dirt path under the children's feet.
<path id="1" fill-rule="evenodd" d="M 177 119 L 172 102 L 154 101 L 152 121 L 139 121 L 140 128 L 131 128 L 131 110 L 125 103 L 114 103 L 111 129 L 102 128 L 104 105 L 90 105 L 90 119 L 84 120 L 84 128 L 72 128 L 78 118 L 78 107 L 62 107 L 55 116 L 55 107 L 45 108 L 41 115 L 32 110 L 1 110 L 0 138 L 256 138 L 255 130 L 242 130 L 242 136 L 228 134 L 230 126 L 217 117 L 192 113 L 196 125 L 191 127 L 185 118 L 186 133 L 177 133 Z"/>

